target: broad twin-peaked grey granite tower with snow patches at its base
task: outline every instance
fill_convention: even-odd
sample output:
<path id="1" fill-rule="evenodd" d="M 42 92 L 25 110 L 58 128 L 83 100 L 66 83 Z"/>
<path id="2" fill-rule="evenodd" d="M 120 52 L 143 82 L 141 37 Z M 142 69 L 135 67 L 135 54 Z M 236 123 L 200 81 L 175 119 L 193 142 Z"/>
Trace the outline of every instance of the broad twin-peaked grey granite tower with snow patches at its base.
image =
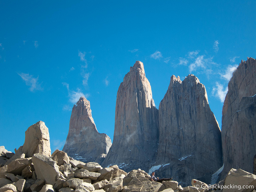
<path id="1" fill-rule="evenodd" d="M 194 75 L 182 82 L 172 76 L 158 114 L 160 138 L 155 166 L 162 166 L 156 174 L 173 176 L 188 185 L 191 178 L 210 183 L 211 175 L 222 166 L 222 147 L 220 128 L 204 85 Z"/>

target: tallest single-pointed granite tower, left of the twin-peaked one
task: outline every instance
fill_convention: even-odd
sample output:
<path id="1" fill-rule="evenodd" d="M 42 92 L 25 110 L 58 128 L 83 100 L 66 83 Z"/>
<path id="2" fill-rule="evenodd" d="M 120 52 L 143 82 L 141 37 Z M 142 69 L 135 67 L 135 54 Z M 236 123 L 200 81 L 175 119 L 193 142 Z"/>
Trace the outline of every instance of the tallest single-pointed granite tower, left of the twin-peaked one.
<path id="1" fill-rule="evenodd" d="M 136 61 L 119 86 L 113 144 L 103 166 L 148 170 L 158 144 L 158 110 L 143 63 Z"/>

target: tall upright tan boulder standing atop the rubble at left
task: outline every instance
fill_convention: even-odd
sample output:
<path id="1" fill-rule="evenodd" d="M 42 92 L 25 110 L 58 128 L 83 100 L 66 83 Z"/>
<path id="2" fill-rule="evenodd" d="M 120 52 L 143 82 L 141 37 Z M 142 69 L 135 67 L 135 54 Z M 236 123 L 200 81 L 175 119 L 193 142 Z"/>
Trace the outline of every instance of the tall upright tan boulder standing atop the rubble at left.
<path id="1" fill-rule="evenodd" d="M 50 135 L 44 122 L 39 121 L 26 130 L 22 152 L 26 157 L 32 157 L 35 153 L 51 156 Z"/>

